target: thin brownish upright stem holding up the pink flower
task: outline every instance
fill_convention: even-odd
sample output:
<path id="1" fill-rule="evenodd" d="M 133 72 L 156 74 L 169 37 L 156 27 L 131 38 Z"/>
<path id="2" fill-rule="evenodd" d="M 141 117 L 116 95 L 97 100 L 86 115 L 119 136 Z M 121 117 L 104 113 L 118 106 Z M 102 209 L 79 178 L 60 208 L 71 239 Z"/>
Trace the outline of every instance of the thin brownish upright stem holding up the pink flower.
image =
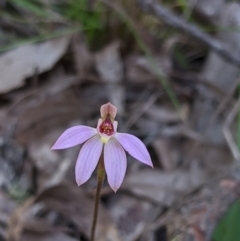
<path id="1" fill-rule="evenodd" d="M 102 189 L 104 178 L 105 178 L 105 169 L 104 169 L 103 157 L 101 156 L 98 163 L 98 168 L 97 168 L 97 189 L 96 189 L 96 196 L 94 201 L 94 213 L 93 213 L 91 239 L 90 239 L 91 241 L 94 241 L 94 235 L 95 235 L 97 217 L 98 217 L 98 207 L 99 207 L 101 189 Z"/>

